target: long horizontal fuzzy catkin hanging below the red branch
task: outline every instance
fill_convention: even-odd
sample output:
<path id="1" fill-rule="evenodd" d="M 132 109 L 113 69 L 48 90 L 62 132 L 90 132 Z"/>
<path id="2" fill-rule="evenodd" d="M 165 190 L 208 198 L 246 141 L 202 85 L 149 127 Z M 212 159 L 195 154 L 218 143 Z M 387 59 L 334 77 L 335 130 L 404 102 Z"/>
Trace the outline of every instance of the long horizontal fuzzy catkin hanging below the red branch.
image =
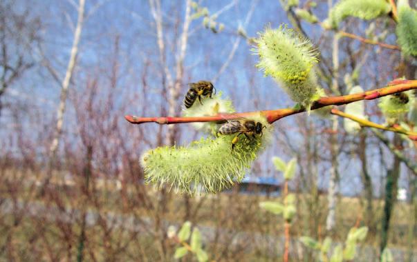
<path id="1" fill-rule="evenodd" d="M 267 128 L 263 136 L 247 139 L 244 135 L 232 150 L 237 134 L 202 138 L 187 146 L 161 147 L 142 155 L 145 181 L 180 192 L 219 192 L 240 182 L 259 151 L 266 147 L 272 127 L 261 115 L 250 117 Z"/>

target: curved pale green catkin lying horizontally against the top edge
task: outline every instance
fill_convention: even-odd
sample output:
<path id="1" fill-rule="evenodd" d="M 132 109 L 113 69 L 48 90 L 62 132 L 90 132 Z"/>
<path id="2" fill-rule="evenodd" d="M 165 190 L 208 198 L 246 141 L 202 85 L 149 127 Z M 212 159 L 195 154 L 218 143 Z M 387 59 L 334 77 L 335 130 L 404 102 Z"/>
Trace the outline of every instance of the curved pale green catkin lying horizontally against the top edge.
<path id="1" fill-rule="evenodd" d="M 331 9 L 329 23 L 332 28 L 337 28 L 346 17 L 370 20 L 390 11 L 391 6 L 386 0 L 341 0 Z"/>

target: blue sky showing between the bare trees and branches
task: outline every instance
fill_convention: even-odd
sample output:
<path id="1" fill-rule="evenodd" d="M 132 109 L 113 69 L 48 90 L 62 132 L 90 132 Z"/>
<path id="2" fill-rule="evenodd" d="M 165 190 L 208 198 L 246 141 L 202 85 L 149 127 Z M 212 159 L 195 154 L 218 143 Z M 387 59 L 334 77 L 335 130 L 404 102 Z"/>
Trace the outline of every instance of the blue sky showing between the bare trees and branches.
<path id="1" fill-rule="evenodd" d="M 57 72 L 63 77 L 66 63 L 68 63 L 69 50 L 73 39 L 73 26 L 77 20 L 77 13 L 71 1 L 54 1 L 54 0 L 31 0 L 17 1 L 21 7 L 30 6 L 34 14 L 40 14 L 44 22 L 44 30 L 41 36 L 44 42 L 41 48 Z M 100 4 L 102 3 L 102 4 Z M 245 31 L 248 36 L 255 37 L 257 32 L 263 30 L 266 26 L 272 28 L 278 27 L 281 23 L 288 23 L 284 10 L 279 5 L 279 1 L 203 1 L 201 6 L 205 6 L 213 14 L 228 4 L 231 8 L 222 12 L 216 19 L 219 23 L 224 23 L 225 30 L 221 33 L 214 34 L 210 30 L 203 28 L 202 19 L 192 21 L 187 46 L 187 56 L 185 58 L 185 79 L 184 82 L 198 81 L 200 79 L 212 79 L 219 71 L 225 60 L 227 59 L 235 41 L 239 39 L 236 32 L 239 26 L 243 26 L 245 19 L 253 5 L 254 12 Z M 95 5 L 100 4 L 94 12 Z M 167 61 L 169 63 L 172 74 L 174 74 L 174 58 L 176 50 L 172 50 L 176 34 L 180 33 L 181 23 L 176 24 L 176 19 L 183 19 L 184 1 L 163 1 L 163 29 L 167 37 Z M 320 19 L 326 17 L 326 3 L 319 3 L 317 12 Z M 85 26 L 82 31 L 82 41 L 80 43 L 80 54 L 78 56 L 78 66 L 75 70 L 73 85 L 71 85 L 70 97 L 85 88 L 86 79 L 91 75 L 102 74 L 100 83 L 105 85 L 108 83 L 106 79 L 109 72 L 109 61 L 115 59 L 115 39 L 118 37 L 119 53 L 118 70 L 120 79 L 118 81 L 118 92 L 120 97 L 115 97 L 115 106 L 122 106 L 125 103 L 124 97 L 138 94 L 140 96 L 141 79 L 140 76 L 145 70 L 145 64 L 151 63 L 151 68 L 147 73 L 147 79 L 151 90 L 148 92 L 147 112 L 140 112 L 139 104 L 127 105 L 128 112 L 125 114 L 146 114 L 153 116 L 158 114 L 160 106 L 166 101 L 161 98 L 161 72 L 158 66 L 158 49 L 156 48 L 156 31 L 154 28 L 154 20 L 149 11 L 148 1 L 87 1 L 86 13 L 89 14 L 86 19 Z M 331 33 L 322 35 L 319 26 L 308 26 L 303 23 L 306 32 L 312 37 L 313 43 L 317 46 L 320 44 L 319 50 L 324 56 L 329 54 L 328 43 L 324 40 Z M 364 24 L 360 24 L 364 27 Z M 358 30 L 354 28 L 354 30 Z M 176 32 L 178 30 L 178 32 Z M 356 44 L 356 46 L 359 46 Z M 263 77 L 263 73 L 254 68 L 257 63 L 257 57 L 251 51 L 253 47 L 241 39 L 239 48 L 234 54 L 228 68 L 221 74 L 219 79 L 214 83 L 217 90 L 223 91 L 226 97 L 234 99 L 234 104 L 238 111 L 266 110 L 273 108 L 286 108 L 293 105 L 288 96 L 279 88 L 279 85 L 269 78 Z M 39 50 L 34 51 L 37 61 L 41 60 Z M 343 54 L 342 54 L 343 58 Z M 378 68 L 378 63 L 369 62 L 368 69 Z M 378 70 L 376 70 L 378 71 Z M 367 77 L 362 77 L 364 84 L 367 83 Z M 383 82 L 383 81 L 382 81 Z M 250 88 L 255 86 L 256 88 Z M 371 88 L 371 87 L 369 87 Z M 372 87 L 373 88 L 373 87 Z M 367 88 L 365 88 L 367 89 Z M 184 85 L 183 92 L 185 94 L 186 87 Z M 258 99 L 254 99 L 258 98 Z M 50 77 L 48 72 L 41 66 L 37 66 L 27 72 L 18 83 L 15 83 L 12 92 L 8 94 L 10 101 L 21 101 L 28 103 L 31 110 L 22 115 L 21 124 L 26 128 L 33 128 L 34 132 L 42 132 L 42 128 L 50 128 L 53 123 L 57 102 L 59 101 L 59 85 Z M 66 114 L 65 129 L 69 132 L 75 132 L 75 108 L 77 105 L 68 101 L 68 112 Z M 257 103 L 254 103 L 257 100 Z M 144 100 L 142 100 L 144 101 Z M 138 103 L 141 101 L 139 100 Z M 36 117 L 34 117 L 36 115 Z M 10 123 L 10 114 L 7 112 L 0 118 L 1 125 Z M 120 115 L 120 121 L 124 121 L 123 115 Z M 275 125 L 277 126 L 276 136 L 279 137 L 279 129 L 285 128 L 289 130 L 290 139 L 295 148 L 303 150 L 305 146 L 302 144 L 302 134 L 297 133 L 299 123 L 307 121 L 320 125 L 321 128 L 327 125 L 325 120 L 310 117 L 306 120 L 306 116 L 290 117 L 283 119 Z M 127 123 L 126 123 L 127 124 Z M 155 126 L 145 127 L 149 132 L 156 130 Z M 0 132 L 0 136 L 10 137 L 12 129 L 6 128 Z M 292 131 L 294 130 L 294 132 Z M 190 132 L 188 127 L 185 131 Z M 178 143 L 187 143 L 190 137 L 184 132 L 181 141 Z M 320 131 L 317 130 L 317 133 Z M 76 139 L 76 134 L 74 135 Z M 282 138 L 281 138 L 282 140 Z M 285 139 L 284 139 L 285 140 Z M 317 141 L 324 143 L 324 141 Z M 318 145 L 320 146 L 323 145 Z M 370 148 L 369 159 L 371 171 L 379 183 L 378 177 L 382 176 L 378 157 L 374 157 L 378 148 Z M 266 176 L 280 176 L 272 170 L 270 158 L 279 154 L 288 160 L 292 156 L 288 154 L 288 145 L 275 143 L 271 148 L 266 150 L 257 165 L 263 166 L 263 172 Z M 328 154 L 323 153 L 323 154 Z M 340 172 L 342 174 L 342 190 L 346 194 L 355 194 L 359 192 L 361 182 L 357 171 L 359 170 L 358 161 L 352 159 L 349 152 L 341 154 Z M 387 160 L 389 161 L 389 160 Z M 349 168 L 348 168 L 349 166 Z M 267 167 L 267 168 L 265 168 Z M 319 166 L 319 176 L 322 187 L 326 187 L 328 174 L 328 163 L 322 163 Z M 405 183 L 406 180 L 403 177 Z M 347 186 L 349 185 L 349 186 Z"/>

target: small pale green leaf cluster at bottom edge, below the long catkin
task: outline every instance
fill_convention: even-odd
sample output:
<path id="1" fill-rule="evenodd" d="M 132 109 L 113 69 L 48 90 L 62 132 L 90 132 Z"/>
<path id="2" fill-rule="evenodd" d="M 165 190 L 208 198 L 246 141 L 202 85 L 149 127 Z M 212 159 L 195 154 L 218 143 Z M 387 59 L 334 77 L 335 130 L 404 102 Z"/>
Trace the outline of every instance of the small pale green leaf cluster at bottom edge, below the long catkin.
<path id="1" fill-rule="evenodd" d="M 194 254 L 194 256 L 196 256 L 198 262 L 208 261 L 207 252 L 203 250 L 201 232 L 198 230 L 198 228 L 194 228 L 191 233 L 191 226 L 191 222 L 186 221 L 178 234 L 176 233 L 176 229 L 173 226 L 168 228 L 168 237 L 175 239 L 182 245 L 175 250 L 174 259 L 180 259 L 183 256 L 186 256 L 188 252 L 191 252 Z"/>

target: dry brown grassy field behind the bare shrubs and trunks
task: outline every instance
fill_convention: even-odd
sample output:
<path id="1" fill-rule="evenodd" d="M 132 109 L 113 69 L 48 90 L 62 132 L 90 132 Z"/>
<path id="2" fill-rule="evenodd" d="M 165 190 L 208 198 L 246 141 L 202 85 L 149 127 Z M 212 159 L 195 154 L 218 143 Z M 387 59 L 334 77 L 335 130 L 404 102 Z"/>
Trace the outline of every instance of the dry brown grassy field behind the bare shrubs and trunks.
<path id="1" fill-rule="evenodd" d="M 12 196 L 17 196 L 19 203 L 26 203 L 32 207 L 36 205 L 39 206 L 40 208 L 38 209 L 41 210 L 44 210 L 44 207 L 46 206 L 48 208 L 57 207 L 58 202 L 45 199 L 44 196 L 37 193 L 37 191 L 39 191 L 38 185 L 41 184 L 43 179 L 42 176 L 35 176 L 30 173 L 26 173 L 24 176 L 22 174 L 16 174 L 17 173 L 6 174 L 3 172 L 1 179 L 7 182 L 0 183 L 0 195 L 3 198 L 3 202 L 1 202 L 0 206 L 4 206 L 6 203 L 5 201 L 10 201 Z M 24 181 L 24 183 L 21 183 L 21 181 Z M 25 250 L 28 250 L 28 247 L 24 248 L 26 245 L 34 245 L 34 248 L 38 246 L 39 250 L 45 248 L 42 241 L 39 242 L 39 239 L 33 243 L 31 243 L 30 240 L 31 238 L 35 239 L 37 233 L 33 231 L 33 228 L 39 227 L 39 223 L 43 225 L 45 230 L 44 234 L 47 236 L 48 240 L 57 245 L 57 250 L 65 249 L 59 244 L 62 242 L 62 237 L 65 237 L 62 235 L 62 227 L 64 225 L 57 224 L 55 219 L 53 219 L 53 214 L 56 215 L 60 212 L 71 214 L 74 218 L 73 223 L 70 222 L 71 220 L 65 222 L 67 224 L 69 223 L 69 225 L 66 225 L 69 227 L 69 232 L 80 231 L 80 214 L 84 210 L 91 214 L 102 214 L 104 219 L 106 219 L 109 214 L 115 217 L 138 218 L 142 221 L 149 221 L 149 225 L 153 225 L 157 217 L 156 203 L 158 202 L 159 197 L 158 192 L 148 185 L 145 185 L 144 189 L 147 194 L 147 201 L 151 203 L 151 205 L 147 206 L 154 207 L 151 209 L 147 208 L 143 203 L 138 202 L 138 190 L 135 185 L 128 185 L 127 190 L 123 193 L 122 185 L 118 181 L 104 179 L 92 180 L 91 183 L 95 183 L 96 190 L 93 191 L 93 195 L 89 196 L 89 199 L 86 200 L 80 187 L 80 185 L 82 185 L 82 180 L 71 181 L 67 179 L 65 181 L 65 179 L 62 180 L 55 177 L 51 179 L 51 183 L 53 184 L 53 190 L 59 199 L 59 205 L 64 206 L 65 209 L 59 211 L 58 208 L 58 210 L 51 212 L 49 215 L 48 212 L 42 211 L 42 216 L 29 216 L 28 214 L 23 216 L 23 222 L 19 224 L 14 232 L 14 241 L 17 241 L 21 248 L 20 251 L 16 250 L 16 252 L 23 252 L 21 253 L 22 255 L 24 255 Z M 35 186 L 32 187 L 32 185 Z M 268 261 L 268 259 L 272 259 L 279 254 L 279 249 L 268 246 L 269 244 L 267 244 L 268 241 L 266 239 L 273 237 L 275 239 L 273 243 L 275 243 L 275 241 L 280 241 L 279 239 L 281 239 L 284 232 L 283 221 L 277 216 L 260 210 L 259 201 L 264 201 L 266 199 L 281 201 L 281 197 L 268 198 L 264 195 L 239 194 L 236 192 L 224 192 L 214 195 L 207 194 L 194 197 L 187 197 L 172 192 L 168 194 L 167 197 L 166 212 L 163 214 L 163 223 L 165 225 L 178 225 L 187 218 L 193 223 L 196 223 L 198 227 L 203 228 L 205 230 L 203 232 L 205 232 L 207 237 L 209 237 L 212 232 L 215 232 L 214 230 L 219 228 L 221 229 L 221 232 L 229 232 L 228 234 L 230 234 L 230 237 L 234 236 L 234 241 L 242 238 L 242 236 L 236 238 L 235 235 L 242 233 L 248 235 L 243 237 L 243 239 L 248 238 L 248 241 L 250 240 L 251 243 L 254 241 L 256 244 L 253 246 L 254 249 L 246 250 L 246 256 L 249 256 L 249 254 L 250 256 L 248 257 L 248 260 L 245 261 L 252 261 L 252 259 L 255 258 L 261 259 L 262 257 L 265 261 Z M 93 199 L 98 199 L 99 203 L 93 201 Z M 320 238 L 324 237 L 324 229 L 322 227 L 326 218 L 326 201 L 325 195 L 320 195 L 318 196 L 317 201 L 313 201 L 313 198 L 308 194 L 297 194 L 297 217 L 291 228 L 291 236 L 293 239 L 298 239 L 303 235 L 311 235 L 313 237 L 318 236 Z M 369 232 L 369 236 L 364 245 L 378 250 L 378 235 L 380 231 L 380 217 L 382 215 L 383 201 L 375 199 L 373 205 L 375 208 L 374 216 L 376 221 L 378 221 L 378 223 L 376 223 L 376 232 Z M 35 208 L 35 210 L 36 209 L 37 208 Z M 405 252 L 409 246 L 407 235 L 409 234 L 409 221 L 412 215 L 411 211 L 411 206 L 408 203 L 396 203 L 391 220 L 389 248 Z M 8 232 L 8 230 L 10 230 L 10 223 L 12 223 L 12 214 L 7 212 L 7 214 L 3 214 L 2 216 L 3 223 L 0 230 L 1 232 Z M 335 241 L 343 242 L 349 228 L 353 227 L 353 225 L 364 225 L 361 216 L 361 199 L 340 197 L 337 205 L 337 232 L 333 235 L 333 239 L 335 239 Z M 50 220 L 45 220 L 45 217 Z M 108 217 L 107 220 L 109 220 Z M 152 244 L 153 236 L 146 231 L 140 232 L 140 230 L 138 230 L 138 232 L 135 232 L 135 230 L 126 231 L 121 230 L 120 228 L 113 228 L 109 233 L 109 239 L 106 240 L 110 241 L 110 243 L 106 242 L 104 241 L 105 237 L 103 235 L 105 232 L 102 232 L 103 228 L 100 223 L 100 219 L 96 218 L 86 230 L 86 234 L 89 235 L 89 241 L 96 242 L 95 244 L 99 246 L 99 248 L 94 251 L 97 252 L 97 254 L 94 255 L 96 258 L 106 256 L 106 245 L 112 245 L 111 238 L 117 237 L 122 239 L 118 239 L 118 241 L 115 242 L 122 241 L 122 243 L 126 245 L 125 248 L 129 250 L 129 252 L 127 252 L 129 253 L 129 256 L 135 256 L 135 254 L 139 255 L 140 252 L 149 252 L 148 254 L 155 253 L 157 256 L 158 252 L 160 252 L 160 250 L 158 251 L 158 248 Z M 417 229 L 414 228 L 414 236 L 417 235 L 416 231 Z M 75 236 L 77 234 L 71 236 L 74 238 L 71 239 L 73 242 L 71 253 L 73 254 L 76 253 L 75 246 L 77 238 Z M 7 234 L 2 234 L 0 246 L 1 243 L 5 243 L 6 239 L 4 238 L 6 235 Z M 228 237 L 226 236 L 227 235 L 222 236 L 222 241 L 227 242 Z M 210 238 L 211 237 L 215 238 L 214 235 L 210 236 Z M 133 240 L 133 238 L 135 239 Z M 296 242 L 297 241 L 295 241 L 294 246 L 298 245 Z M 233 243 L 233 241 L 230 243 Z M 90 245 L 93 244 L 90 243 Z M 138 250 L 138 245 L 146 247 L 145 250 Z M 210 246 L 210 243 L 207 243 L 207 245 Z M 239 247 L 237 243 L 234 245 L 237 245 L 235 248 Z M 416 237 L 414 237 L 413 245 L 414 247 L 417 246 Z M 107 246 L 107 248 L 109 247 Z M 299 248 L 301 248 L 301 246 Z M 58 251 L 55 250 L 55 252 Z M 44 256 L 44 254 L 41 253 L 39 253 L 39 255 Z M 250 257 L 252 257 L 252 259 L 250 259 Z"/>

